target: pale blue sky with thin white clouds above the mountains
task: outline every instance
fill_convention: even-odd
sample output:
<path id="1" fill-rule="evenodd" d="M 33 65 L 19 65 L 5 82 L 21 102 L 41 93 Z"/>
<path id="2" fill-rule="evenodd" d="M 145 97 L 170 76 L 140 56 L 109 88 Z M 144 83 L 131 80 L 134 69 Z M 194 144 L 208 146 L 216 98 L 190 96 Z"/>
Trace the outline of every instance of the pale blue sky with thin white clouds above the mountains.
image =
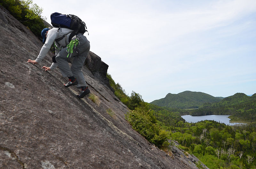
<path id="1" fill-rule="evenodd" d="M 33 2 L 49 23 L 53 12 L 80 17 L 108 73 L 146 102 L 187 90 L 256 93 L 255 0 Z"/>

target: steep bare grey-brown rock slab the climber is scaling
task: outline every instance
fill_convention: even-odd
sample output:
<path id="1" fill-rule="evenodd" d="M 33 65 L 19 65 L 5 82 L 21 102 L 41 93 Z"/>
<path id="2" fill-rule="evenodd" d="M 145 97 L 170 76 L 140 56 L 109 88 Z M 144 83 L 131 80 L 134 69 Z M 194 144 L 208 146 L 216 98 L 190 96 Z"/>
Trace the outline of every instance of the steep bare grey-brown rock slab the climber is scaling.
<path id="1" fill-rule="evenodd" d="M 90 53 L 83 68 L 97 105 L 64 88 L 58 69 L 42 69 L 53 54 L 27 63 L 42 45 L 0 6 L 0 168 L 196 168 L 152 147 L 125 121 L 128 109 L 99 56 Z"/>

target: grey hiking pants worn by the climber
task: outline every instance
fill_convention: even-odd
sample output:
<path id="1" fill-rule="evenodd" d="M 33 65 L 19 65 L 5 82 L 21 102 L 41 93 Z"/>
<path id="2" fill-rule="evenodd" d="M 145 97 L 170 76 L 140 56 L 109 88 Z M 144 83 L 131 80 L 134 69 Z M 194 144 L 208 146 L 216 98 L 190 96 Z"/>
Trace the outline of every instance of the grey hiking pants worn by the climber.
<path id="1" fill-rule="evenodd" d="M 86 39 L 86 37 L 82 34 L 77 35 L 79 39 L 79 45 L 74 49 L 71 57 L 73 57 L 73 62 L 71 68 L 68 65 L 68 52 L 67 48 L 63 48 L 56 55 L 56 62 L 59 66 L 60 72 L 63 77 L 71 77 L 74 76 L 77 79 L 78 84 L 77 88 L 81 88 L 82 86 L 87 86 L 84 80 L 84 74 L 81 71 L 82 66 L 84 65 L 84 61 L 90 50 L 90 42 Z M 70 57 L 70 54 L 69 56 Z"/>

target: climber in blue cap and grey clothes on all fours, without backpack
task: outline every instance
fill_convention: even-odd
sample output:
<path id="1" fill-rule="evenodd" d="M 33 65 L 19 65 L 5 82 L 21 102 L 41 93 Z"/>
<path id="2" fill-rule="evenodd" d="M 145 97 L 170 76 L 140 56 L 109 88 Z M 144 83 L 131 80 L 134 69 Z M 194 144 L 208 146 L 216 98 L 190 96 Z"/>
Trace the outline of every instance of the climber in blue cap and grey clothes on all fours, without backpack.
<path id="1" fill-rule="evenodd" d="M 72 32 L 73 30 L 68 28 L 44 28 L 41 32 L 44 45 L 36 60 L 28 59 L 28 62 L 37 64 L 42 61 L 55 40 L 56 55 L 52 57 L 52 65 L 50 67 L 43 66 L 42 68 L 47 71 L 53 70 L 58 66 L 62 76 L 68 77 L 69 79 L 68 83 L 64 84 L 64 86 L 76 85 L 78 89 L 81 89 L 77 97 L 84 98 L 85 95 L 90 93 L 90 90 L 84 80 L 84 74 L 81 68 L 89 53 L 90 42 L 82 33 L 78 33 L 69 43 L 69 36 Z M 73 57 L 71 68 L 68 65 L 68 58 L 70 57 Z"/>

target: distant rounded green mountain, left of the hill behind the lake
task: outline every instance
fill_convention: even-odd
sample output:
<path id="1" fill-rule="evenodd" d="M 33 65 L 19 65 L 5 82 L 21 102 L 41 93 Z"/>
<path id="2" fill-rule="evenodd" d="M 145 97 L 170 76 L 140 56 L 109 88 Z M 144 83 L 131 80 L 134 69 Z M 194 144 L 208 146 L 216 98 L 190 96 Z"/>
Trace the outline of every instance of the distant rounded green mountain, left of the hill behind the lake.
<path id="1" fill-rule="evenodd" d="M 171 108 L 198 108 L 204 103 L 214 103 L 222 100 L 222 97 L 214 97 L 203 92 L 184 91 L 178 94 L 168 93 L 165 98 L 154 100 L 151 104 L 160 107 Z"/>

